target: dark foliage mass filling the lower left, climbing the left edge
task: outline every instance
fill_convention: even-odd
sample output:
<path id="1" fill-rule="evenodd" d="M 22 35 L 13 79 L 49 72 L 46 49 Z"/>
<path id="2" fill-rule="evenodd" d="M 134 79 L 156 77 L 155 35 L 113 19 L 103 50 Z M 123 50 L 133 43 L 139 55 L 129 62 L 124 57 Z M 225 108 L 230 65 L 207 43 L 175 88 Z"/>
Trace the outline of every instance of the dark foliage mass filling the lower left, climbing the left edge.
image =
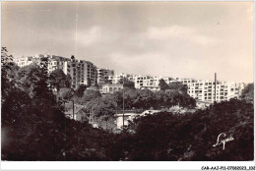
<path id="1" fill-rule="evenodd" d="M 64 116 L 46 62 L 20 69 L 12 79 L 10 64 L 2 63 L 2 160 L 109 160 L 113 136 Z"/>

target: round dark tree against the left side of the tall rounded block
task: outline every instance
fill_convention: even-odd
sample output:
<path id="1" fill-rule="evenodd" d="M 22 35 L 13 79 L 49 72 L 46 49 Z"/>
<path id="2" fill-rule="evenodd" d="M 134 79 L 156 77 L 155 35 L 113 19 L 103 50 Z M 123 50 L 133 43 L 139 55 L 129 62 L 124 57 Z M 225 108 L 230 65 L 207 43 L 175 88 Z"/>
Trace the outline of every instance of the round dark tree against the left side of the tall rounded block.
<path id="1" fill-rule="evenodd" d="M 71 76 L 65 75 L 61 69 L 54 70 L 49 77 L 49 84 L 51 87 L 54 87 L 57 89 L 57 92 L 59 92 L 60 88 L 63 87 L 71 87 Z"/>

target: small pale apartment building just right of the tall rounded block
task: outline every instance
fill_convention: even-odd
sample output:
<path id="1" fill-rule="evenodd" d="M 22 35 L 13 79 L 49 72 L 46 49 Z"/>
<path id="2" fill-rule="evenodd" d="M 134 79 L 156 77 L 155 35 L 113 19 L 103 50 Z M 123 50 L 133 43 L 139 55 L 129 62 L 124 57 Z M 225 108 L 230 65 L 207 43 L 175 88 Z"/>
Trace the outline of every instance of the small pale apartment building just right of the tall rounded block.
<path id="1" fill-rule="evenodd" d="M 113 70 L 108 70 L 108 69 L 101 69 L 101 68 L 97 68 L 96 69 L 96 74 L 97 74 L 97 85 L 104 85 L 104 84 L 108 84 L 111 83 L 111 80 L 114 76 L 114 71 Z M 110 77 L 110 79 L 109 79 Z"/>

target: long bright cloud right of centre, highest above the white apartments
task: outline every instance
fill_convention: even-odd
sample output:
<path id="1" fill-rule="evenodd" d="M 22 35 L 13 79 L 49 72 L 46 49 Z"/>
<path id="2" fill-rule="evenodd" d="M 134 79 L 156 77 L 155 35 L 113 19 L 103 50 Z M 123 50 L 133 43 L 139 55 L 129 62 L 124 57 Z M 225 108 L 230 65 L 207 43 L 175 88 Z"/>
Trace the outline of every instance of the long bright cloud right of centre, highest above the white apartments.
<path id="1" fill-rule="evenodd" d="M 175 38 L 201 45 L 218 42 L 216 38 L 206 36 L 195 28 L 186 28 L 177 25 L 164 28 L 149 27 L 146 31 L 146 37 L 154 40 L 170 40 Z"/>

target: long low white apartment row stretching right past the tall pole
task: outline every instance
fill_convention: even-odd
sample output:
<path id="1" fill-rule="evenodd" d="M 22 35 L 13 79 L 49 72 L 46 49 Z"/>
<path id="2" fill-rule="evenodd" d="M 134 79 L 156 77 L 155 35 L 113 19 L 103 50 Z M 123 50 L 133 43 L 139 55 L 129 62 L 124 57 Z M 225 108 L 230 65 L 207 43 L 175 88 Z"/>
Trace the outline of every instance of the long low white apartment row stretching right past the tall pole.
<path id="1" fill-rule="evenodd" d="M 150 89 L 152 91 L 160 90 L 160 80 L 164 80 L 168 85 L 173 82 L 180 82 L 187 85 L 187 92 L 197 101 L 205 101 L 213 103 L 215 101 L 215 82 L 202 81 L 193 79 L 179 79 L 171 77 L 154 77 L 143 75 L 117 74 L 113 76 L 112 82 L 118 83 L 122 78 L 127 78 L 135 83 L 136 88 Z M 229 100 L 230 98 L 239 98 L 245 84 L 217 82 L 216 85 L 216 101 Z"/>

